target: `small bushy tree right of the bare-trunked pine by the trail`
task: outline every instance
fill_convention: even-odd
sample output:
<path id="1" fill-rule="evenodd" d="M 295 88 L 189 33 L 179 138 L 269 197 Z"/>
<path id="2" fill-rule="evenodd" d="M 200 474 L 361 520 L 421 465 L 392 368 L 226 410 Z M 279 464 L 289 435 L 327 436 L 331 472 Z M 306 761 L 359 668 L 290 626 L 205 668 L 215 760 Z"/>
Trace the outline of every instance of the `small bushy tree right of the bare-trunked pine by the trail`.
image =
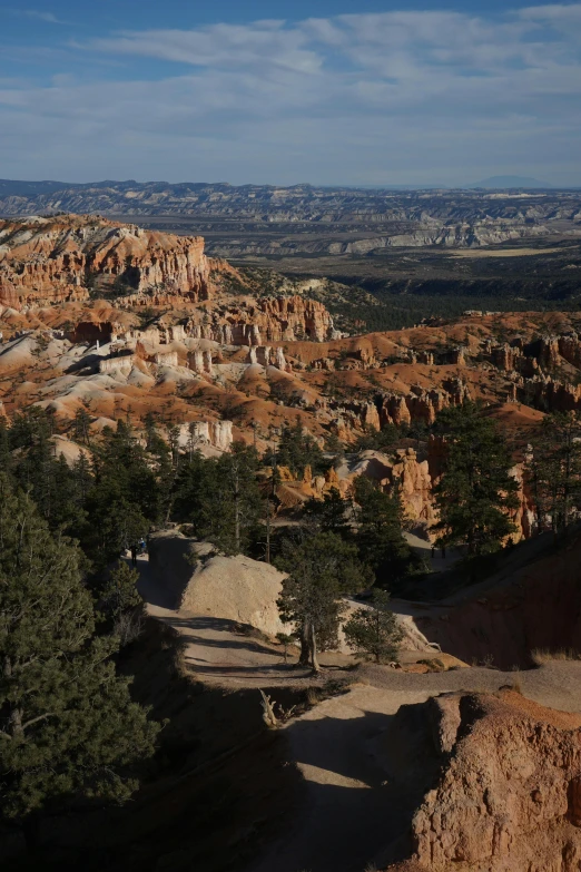
<path id="1" fill-rule="evenodd" d="M 345 638 L 355 654 L 375 663 L 397 662 L 403 633 L 390 609 L 386 590 L 374 590 L 371 608 L 356 609 L 343 627 Z"/>

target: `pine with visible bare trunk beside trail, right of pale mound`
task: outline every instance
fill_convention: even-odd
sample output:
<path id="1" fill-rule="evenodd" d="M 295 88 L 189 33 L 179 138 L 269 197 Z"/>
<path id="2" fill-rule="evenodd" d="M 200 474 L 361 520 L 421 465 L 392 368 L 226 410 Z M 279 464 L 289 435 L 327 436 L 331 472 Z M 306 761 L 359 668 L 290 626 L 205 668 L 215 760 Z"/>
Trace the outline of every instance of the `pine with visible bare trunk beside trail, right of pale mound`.
<path id="1" fill-rule="evenodd" d="M 303 666 L 318 672 L 318 640 L 334 647 L 342 617 L 341 597 L 361 590 L 368 576 L 357 549 L 332 532 L 287 539 L 276 561 L 287 572 L 278 599 L 282 620 L 294 624 L 301 639 Z"/>

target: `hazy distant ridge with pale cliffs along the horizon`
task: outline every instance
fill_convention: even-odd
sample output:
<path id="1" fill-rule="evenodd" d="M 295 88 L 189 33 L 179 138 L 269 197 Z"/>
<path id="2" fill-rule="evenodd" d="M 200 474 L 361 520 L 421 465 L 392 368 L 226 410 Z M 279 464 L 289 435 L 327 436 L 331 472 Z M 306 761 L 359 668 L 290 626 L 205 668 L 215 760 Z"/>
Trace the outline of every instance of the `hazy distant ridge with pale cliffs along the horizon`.
<path id="1" fill-rule="evenodd" d="M 386 247 L 479 247 L 510 239 L 579 233 L 578 192 L 373 190 L 268 185 L 105 182 L 88 185 L 0 182 L 0 215 L 51 212 L 109 215 L 223 218 L 248 225 L 303 224 L 319 239 L 230 238 L 224 234 L 214 254 L 366 254 Z M 338 228 L 352 236 L 343 241 Z M 355 235 L 353 238 L 353 231 Z"/>

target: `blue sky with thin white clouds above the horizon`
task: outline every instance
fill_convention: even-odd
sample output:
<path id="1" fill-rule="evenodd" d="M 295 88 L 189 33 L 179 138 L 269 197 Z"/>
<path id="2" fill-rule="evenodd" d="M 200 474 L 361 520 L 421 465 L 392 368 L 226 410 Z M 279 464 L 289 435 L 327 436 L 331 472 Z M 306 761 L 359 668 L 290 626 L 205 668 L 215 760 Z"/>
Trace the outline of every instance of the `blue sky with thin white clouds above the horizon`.
<path id="1" fill-rule="evenodd" d="M 581 185 L 581 2 L 0 0 L 0 178 Z"/>

